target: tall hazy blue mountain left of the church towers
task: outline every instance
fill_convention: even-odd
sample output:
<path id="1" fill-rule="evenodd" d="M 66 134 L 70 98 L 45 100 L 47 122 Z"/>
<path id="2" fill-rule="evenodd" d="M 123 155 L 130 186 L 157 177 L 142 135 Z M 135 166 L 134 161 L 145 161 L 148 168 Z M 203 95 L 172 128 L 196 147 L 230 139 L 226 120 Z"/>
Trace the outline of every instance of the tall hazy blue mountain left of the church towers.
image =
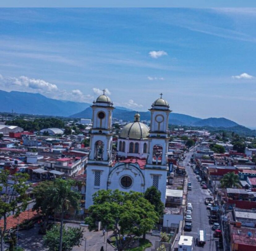
<path id="1" fill-rule="evenodd" d="M 47 98 L 38 93 L 0 90 L 0 111 L 37 115 L 63 116 L 78 113 L 90 104 Z"/>

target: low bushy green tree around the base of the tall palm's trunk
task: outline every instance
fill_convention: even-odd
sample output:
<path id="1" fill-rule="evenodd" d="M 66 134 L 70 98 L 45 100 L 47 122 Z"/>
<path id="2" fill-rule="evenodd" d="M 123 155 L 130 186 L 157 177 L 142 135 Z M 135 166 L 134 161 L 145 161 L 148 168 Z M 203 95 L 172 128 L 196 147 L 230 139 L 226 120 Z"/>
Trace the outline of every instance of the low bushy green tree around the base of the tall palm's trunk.
<path id="1" fill-rule="evenodd" d="M 74 246 L 79 246 L 83 238 L 81 228 L 64 228 L 62 231 L 62 248 L 61 251 L 71 251 Z M 44 243 L 50 251 L 59 250 L 60 226 L 54 225 L 46 231 Z"/>

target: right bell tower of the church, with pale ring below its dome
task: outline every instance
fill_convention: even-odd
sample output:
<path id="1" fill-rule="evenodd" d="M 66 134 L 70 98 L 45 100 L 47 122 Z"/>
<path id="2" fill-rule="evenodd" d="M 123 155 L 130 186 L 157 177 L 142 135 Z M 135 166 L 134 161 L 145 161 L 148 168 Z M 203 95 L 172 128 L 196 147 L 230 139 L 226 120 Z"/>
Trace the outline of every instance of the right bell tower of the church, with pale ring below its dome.
<path id="1" fill-rule="evenodd" d="M 149 111 L 151 112 L 151 124 L 148 136 L 147 161 L 145 165 L 145 189 L 154 186 L 161 191 L 161 200 L 165 203 L 166 178 L 168 171 L 168 122 L 169 104 L 162 98 L 158 98 Z"/>

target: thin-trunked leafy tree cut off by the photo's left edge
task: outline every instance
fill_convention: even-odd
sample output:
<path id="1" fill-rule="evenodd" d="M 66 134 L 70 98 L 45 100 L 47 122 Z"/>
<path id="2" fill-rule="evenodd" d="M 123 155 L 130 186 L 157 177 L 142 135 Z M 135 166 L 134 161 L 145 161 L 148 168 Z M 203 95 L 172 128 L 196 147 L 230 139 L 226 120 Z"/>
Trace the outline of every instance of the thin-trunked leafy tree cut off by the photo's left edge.
<path id="1" fill-rule="evenodd" d="M 26 191 L 29 187 L 26 181 L 28 174 L 16 173 L 9 175 L 8 170 L 0 172 L 0 218 L 3 219 L 3 227 L 0 228 L 1 251 L 4 251 L 4 236 L 6 235 L 7 217 L 12 212 L 15 216 L 26 210 L 28 196 Z M 11 180 L 11 182 L 9 182 Z M 19 206 L 18 206 L 19 204 Z"/>

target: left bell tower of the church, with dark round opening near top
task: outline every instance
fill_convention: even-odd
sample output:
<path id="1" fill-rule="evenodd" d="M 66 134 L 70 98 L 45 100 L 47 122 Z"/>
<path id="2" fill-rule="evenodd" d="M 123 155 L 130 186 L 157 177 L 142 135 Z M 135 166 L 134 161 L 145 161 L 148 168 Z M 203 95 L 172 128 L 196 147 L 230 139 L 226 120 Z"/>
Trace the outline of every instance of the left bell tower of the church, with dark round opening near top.
<path id="1" fill-rule="evenodd" d="M 93 204 L 92 195 L 99 189 L 107 189 L 108 176 L 112 164 L 112 111 L 110 98 L 103 94 L 92 107 L 92 132 L 90 153 L 87 162 L 85 208 Z"/>

